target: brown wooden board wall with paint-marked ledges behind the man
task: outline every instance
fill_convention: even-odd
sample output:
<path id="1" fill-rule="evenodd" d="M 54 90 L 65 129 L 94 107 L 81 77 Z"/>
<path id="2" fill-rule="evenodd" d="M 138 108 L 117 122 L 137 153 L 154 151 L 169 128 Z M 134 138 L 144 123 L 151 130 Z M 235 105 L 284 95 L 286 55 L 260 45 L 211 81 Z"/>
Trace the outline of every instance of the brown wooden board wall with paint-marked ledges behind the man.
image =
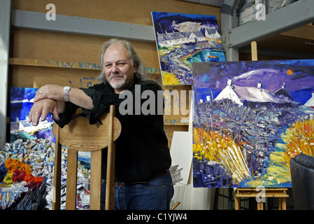
<path id="1" fill-rule="evenodd" d="M 54 3 L 57 15 L 128 22 L 152 26 L 151 11 L 215 15 L 220 25 L 220 8 L 176 0 L 12 0 L 12 8 L 47 13 Z M 11 29 L 10 83 L 13 87 L 40 87 L 47 83 L 85 87 L 97 83 L 97 69 L 65 69 L 63 63 L 99 64 L 101 44 L 108 38 Z M 156 43 L 131 41 L 145 66 L 159 69 Z M 43 66 L 55 64 L 54 66 Z M 31 65 L 31 66 L 30 66 Z M 35 66 L 36 65 L 36 66 Z M 91 79 L 93 78 L 93 79 Z M 150 78 L 162 83 L 160 73 Z M 165 90 L 191 90 L 190 85 L 163 86 Z M 188 97 L 187 97 L 188 100 Z M 171 104 L 173 106 L 173 104 Z M 188 104 L 187 104 L 188 105 Z M 173 131 L 187 131 L 182 118 L 165 115 L 165 131 L 171 146 Z"/>

